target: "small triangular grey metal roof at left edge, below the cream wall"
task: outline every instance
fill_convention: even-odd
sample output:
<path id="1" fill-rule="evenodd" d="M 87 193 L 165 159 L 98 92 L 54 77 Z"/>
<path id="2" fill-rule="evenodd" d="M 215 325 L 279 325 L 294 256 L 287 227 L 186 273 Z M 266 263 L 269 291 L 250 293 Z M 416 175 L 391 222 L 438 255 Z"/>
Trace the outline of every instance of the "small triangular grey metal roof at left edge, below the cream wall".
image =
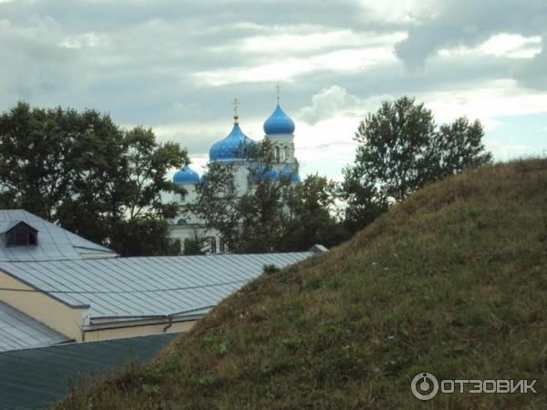
<path id="1" fill-rule="evenodd" d="M 0 352 L 67 341 L 64 335 L 0 302 Z"/>

